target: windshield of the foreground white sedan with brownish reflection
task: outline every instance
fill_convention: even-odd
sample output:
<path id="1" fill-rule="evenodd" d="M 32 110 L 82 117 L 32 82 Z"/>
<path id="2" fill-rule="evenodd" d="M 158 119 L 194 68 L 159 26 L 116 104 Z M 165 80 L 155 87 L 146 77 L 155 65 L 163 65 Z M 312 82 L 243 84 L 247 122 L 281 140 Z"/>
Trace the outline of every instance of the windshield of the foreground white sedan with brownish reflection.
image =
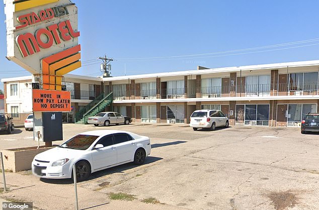
<path id="1" fill-rule="evenodd" d="M 59 147 L 67 149 L 86 150 L 97 138 L 99 137 L 91 135 L 76 135 L 73 138 L 67 140 L 65 143 L 61 144 Z"/>

